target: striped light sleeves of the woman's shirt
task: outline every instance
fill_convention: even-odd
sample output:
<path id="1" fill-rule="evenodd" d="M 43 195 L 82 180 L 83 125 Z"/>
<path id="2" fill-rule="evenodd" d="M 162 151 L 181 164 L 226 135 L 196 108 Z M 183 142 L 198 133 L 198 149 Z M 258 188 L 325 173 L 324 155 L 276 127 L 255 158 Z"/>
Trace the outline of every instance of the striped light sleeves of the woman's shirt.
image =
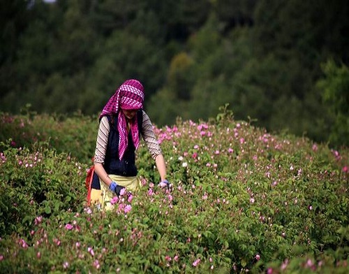
<path id="1" fill-rule="evenodd" d="M 158 154 L 162 154 L 161 147 L 158 144 L 158 140 L 156 140 L 153 125 L 149 119 L 147 113 L 142 111 L 143 121 L 142 121 L 142 138 L 146 143 L 149 152 L 151 153 L 151 157 L 153 159 L 158 156 Z M 96 150 L 94 154 L 94 163 L 103 164 L 105 159 L 105 152 L 107 150 L 107 142 L 110 131 L 110 123 L 107 120 L 106 116 L 103 116 L 101 122 L 99 124 L 98 136 L 96 141 Z"/>

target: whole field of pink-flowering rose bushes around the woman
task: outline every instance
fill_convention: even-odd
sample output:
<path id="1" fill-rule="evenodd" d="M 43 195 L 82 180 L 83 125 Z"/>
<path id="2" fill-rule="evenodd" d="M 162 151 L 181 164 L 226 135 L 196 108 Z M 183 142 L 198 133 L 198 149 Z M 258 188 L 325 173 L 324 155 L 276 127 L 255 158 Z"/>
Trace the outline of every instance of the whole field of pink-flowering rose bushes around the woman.
<path id="1" fill-rule="evenodd" d="M 0 273 L 349 273 L 349 149 L 226 108 L 144 142 L 142 187 L 87 206 L 97 117 L 0 113 Z"/>

